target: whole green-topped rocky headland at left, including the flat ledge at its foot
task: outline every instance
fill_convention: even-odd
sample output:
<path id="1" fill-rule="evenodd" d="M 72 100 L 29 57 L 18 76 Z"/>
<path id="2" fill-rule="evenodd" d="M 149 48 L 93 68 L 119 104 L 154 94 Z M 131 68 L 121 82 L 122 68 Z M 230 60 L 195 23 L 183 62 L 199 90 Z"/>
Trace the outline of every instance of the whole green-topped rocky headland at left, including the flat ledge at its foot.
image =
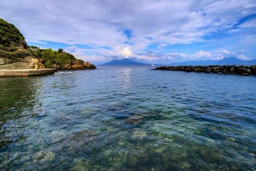
<path id="1" fill-rule="evenodd" d="M 96 67 L 62 49 L 54 51 L 28 46 L 18 28 L 0 19 L 0 76 L 44 75 L 74 69 Z"/>

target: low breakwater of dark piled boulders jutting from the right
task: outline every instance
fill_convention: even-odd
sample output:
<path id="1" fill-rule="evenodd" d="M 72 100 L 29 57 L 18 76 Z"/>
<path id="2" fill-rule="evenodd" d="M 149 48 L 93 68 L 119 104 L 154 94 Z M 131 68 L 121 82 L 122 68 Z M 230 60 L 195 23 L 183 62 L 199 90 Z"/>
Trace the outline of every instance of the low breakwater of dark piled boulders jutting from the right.
<path id="1" fill-rule="evenodd" d="M 160 66 L 152 70 L 256 75 L 256 66 Z"/>

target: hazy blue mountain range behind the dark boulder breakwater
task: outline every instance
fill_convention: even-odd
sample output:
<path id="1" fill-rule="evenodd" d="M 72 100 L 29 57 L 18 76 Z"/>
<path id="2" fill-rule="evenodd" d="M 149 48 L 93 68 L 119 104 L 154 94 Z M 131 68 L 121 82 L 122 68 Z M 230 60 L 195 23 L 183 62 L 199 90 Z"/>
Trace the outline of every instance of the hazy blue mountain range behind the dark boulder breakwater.
<path id="1" fill-rule="evenodd" d="M 241 60 L 235 57 L 224 58 L 221 60 L 188 60 L 184 62 L 173 62 L 171 66 L 196 66 L 196 65 L 256 65 L 256 59 L 252 60 Z"/>

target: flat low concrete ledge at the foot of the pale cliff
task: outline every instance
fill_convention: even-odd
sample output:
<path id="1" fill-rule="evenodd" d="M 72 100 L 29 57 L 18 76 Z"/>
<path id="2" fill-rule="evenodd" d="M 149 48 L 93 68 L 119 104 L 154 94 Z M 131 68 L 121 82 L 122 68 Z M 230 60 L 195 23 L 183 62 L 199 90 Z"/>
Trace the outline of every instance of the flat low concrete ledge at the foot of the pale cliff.
<path id="1" fill-rule="evenodd" d="M 13 69 L 0 70 L 0 77 L 38 76 L 50 75 L 57 72 L 57 69 Z"/>

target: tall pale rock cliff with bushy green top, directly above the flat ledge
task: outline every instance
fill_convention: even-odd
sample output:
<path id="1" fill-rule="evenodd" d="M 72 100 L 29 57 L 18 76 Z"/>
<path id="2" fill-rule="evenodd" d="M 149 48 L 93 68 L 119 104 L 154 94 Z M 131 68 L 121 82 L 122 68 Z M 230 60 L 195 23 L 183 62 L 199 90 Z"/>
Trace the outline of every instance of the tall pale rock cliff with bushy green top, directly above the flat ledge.
<path id="1" fill-rule="evenodd" d="M 0 19 L 0 69 L 44 68 L 44 60 L 27 45 L 20 31 Z"/>

